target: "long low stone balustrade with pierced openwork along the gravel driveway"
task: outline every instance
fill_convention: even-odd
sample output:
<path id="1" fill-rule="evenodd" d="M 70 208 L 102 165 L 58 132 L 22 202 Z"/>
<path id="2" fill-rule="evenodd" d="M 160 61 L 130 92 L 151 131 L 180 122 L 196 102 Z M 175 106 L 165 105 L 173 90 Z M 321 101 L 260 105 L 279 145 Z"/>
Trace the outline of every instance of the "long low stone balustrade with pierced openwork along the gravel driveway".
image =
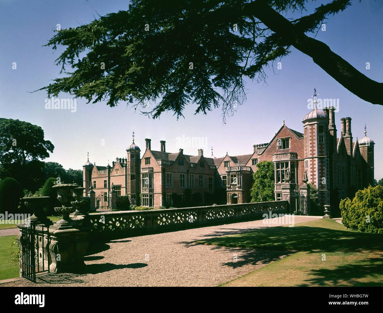
<path id="1" fill-rule="evenodd" d="M 177 228 L 195 228 L 217 223 L 235 223 L 257 219 L 262 214 L 286 213 L 287 201 L 242 203 L 232 205 L 197 206 L 165 210 L 115 211 L 89 215 L 91 235 L 113 232 L 125 236 L 162 232 Z"/>

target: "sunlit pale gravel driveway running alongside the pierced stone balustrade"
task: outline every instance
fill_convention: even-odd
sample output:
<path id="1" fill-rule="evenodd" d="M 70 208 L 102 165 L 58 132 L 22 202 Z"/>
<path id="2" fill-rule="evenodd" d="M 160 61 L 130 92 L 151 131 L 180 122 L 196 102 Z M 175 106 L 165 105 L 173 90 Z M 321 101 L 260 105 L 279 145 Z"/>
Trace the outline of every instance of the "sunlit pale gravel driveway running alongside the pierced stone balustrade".
<path id="1" fill-rule="evenodd" d="M 295 216 L 295 223 L 316 219 Z M 285 254 L 192 242 L 273 226 L 257 220 L 112 240 L 85 257 L 83 274 L 41 274 L 37 284 L 23 279 L 0 286 L 216 286 Z"/>

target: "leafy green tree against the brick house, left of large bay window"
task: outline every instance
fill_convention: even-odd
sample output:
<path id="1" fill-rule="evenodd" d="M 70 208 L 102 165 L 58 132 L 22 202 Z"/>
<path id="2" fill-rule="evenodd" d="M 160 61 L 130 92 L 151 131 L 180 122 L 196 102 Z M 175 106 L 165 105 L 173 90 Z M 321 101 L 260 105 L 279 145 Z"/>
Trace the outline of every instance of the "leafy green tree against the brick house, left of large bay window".
<path id="1" fill-rule="evenodd" d="M 251 202 L 274 201 L 274 164 L 262 161 L 253 174 L 253 187 L 250 190 Z"/>

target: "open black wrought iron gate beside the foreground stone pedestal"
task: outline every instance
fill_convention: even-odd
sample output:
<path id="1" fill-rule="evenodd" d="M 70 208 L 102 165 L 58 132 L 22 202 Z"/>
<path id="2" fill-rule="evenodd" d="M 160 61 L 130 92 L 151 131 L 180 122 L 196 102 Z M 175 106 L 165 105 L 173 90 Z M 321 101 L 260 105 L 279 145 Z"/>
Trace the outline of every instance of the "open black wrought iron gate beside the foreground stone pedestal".
<path id="1" fill-rule="evenodd" d="M 49 255 L 46 250 L 49 244 L 49 226 L 32 224 L 21 227 L 20 266 L 22 277 L 36 282 L 37 273 L 49 272 Z"/>

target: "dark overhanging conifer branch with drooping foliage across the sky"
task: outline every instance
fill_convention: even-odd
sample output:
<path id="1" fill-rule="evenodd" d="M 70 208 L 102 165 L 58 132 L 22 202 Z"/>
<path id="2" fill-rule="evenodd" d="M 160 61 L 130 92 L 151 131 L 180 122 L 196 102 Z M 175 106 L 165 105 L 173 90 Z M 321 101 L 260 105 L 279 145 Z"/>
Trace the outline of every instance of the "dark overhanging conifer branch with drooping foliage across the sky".
<path id="1" fill-rule="evenodd" d="M 133 0 L 128 10 L 99 16 L 89 24 L 61 29 L 47 46 L 64 51 L 56 59 L 65 77 L 46 90 L 84 97 L 88 103 L 119 101 L 182 116 L 222 105 L 233 113 L 246 99 L 244 78 L 264 80 L 264 68 L 291 46 L 358 97 L 383 104 L 383 83 L 375 82 L 307 34 L 351 0 L 332 0 L 306 13 L 308 0 Z M 315 47 L 315 49 L 313 49 Z"/>

